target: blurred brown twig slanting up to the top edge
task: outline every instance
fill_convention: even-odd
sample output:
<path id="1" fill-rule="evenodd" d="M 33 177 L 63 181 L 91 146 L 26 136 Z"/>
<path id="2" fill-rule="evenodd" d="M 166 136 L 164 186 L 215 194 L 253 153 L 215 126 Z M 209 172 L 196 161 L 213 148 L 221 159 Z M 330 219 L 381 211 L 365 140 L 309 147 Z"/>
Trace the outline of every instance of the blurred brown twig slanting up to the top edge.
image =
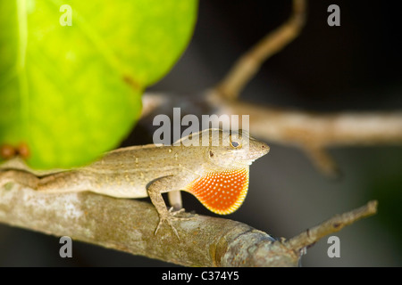
<path id="1" fill-rule="evenodd" d="M 245 85 L 255 76 L 263 62 L 273 54 L 280 52 L 299 35 L 305 21 L 306 1 L 293 0 L 293 12 L 289 20 L 241 56 L 214 91 L 226 99 L 236 99 Z"/>

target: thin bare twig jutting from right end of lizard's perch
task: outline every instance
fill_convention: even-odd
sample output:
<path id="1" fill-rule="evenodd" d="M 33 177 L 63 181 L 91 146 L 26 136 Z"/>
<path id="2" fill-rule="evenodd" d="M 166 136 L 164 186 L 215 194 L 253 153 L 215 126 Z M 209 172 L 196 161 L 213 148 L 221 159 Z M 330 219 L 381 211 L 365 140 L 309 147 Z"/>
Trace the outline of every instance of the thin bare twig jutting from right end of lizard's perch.
<path id="1" fill-rule="evenodd" d="M 322 224 L 318 224 L 308 229 L 306 232 L 301 232 L 296 237 L 285 241 L 285 245 L 295 251 L 300 251 L 303 248 L 313 245 L 326 235 L 339 232 L 343 227 L 353 224 L 361 218 L 373 216 L 377 213 L 377 205 L 378 202 L 373 200 L 361 208 L 356 208 L 339 216 L 333 216 Z"/>

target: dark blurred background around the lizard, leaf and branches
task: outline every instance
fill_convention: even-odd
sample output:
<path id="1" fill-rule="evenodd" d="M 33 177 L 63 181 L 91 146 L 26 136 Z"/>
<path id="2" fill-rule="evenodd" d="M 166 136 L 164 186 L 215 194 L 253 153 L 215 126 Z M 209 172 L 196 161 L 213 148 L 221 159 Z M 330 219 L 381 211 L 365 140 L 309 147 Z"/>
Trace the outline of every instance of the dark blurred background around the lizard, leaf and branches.
<path id="1" fill-rule="evenodd" d="M 340 27 L 327 25 L 330 4 L 340 7 Z M 401 110 L 398 8 L 396 1 L 311 1 L 302 35 L 264 63 L 241 98 L 301 110 Z M 290 1 L 201 0 L 187 52 L 150 90 L 196 96 L 216 84 L 241 53 L 287 20 L 289 12 Z M 318 173 L 302 151 L 268 143 L 272 151 L 251 167 L 244 205 L 228 218 L 289 238 L 378 199 L 377 216 L 336 234 L 340 258 L 327 256 L 325 238 L 308 249 L 302 265 L 402 265 L 400 146 L 331 149 L 343 174 L 333 181 Z M 184 206 L 214 215 L 186 193 Z M 2 266 L 170 265 L 81 242 L 73 243 L 73 258 L 62 259 L 59 248 L 58 238 L 0 225 Z"/>

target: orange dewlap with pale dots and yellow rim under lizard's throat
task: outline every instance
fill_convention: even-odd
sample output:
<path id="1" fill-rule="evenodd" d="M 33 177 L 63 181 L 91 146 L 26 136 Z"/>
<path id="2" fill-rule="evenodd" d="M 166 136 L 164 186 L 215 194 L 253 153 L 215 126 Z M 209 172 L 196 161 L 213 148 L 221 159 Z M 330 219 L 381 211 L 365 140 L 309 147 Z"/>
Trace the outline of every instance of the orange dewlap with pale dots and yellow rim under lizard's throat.
<path id="1" fill-rule="evenodd" d="M 207 172 L 186 187 L 210 211 L 227 215 L 236 211 L 246 198 L 248 167 Z"/>

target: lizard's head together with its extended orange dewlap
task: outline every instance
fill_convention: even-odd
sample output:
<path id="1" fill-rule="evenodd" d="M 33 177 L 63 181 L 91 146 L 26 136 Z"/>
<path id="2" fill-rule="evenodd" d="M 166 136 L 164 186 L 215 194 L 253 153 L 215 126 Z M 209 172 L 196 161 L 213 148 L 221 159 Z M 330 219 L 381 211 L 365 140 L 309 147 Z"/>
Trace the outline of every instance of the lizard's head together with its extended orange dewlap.
<path id="1" fill-rule="evenodd" d="M 209 129 L 199 134 L 197 142 L 202 142 L 202 137 L 209 142 L 202 144 L 207 167 L 205 173 L 189 183 L 185 191 L 196 196 L 214 213 L 230 214 L 246 198 L 248 166 L 268 153 L 270 148 L 241 130 L 234 133 Z"/>

